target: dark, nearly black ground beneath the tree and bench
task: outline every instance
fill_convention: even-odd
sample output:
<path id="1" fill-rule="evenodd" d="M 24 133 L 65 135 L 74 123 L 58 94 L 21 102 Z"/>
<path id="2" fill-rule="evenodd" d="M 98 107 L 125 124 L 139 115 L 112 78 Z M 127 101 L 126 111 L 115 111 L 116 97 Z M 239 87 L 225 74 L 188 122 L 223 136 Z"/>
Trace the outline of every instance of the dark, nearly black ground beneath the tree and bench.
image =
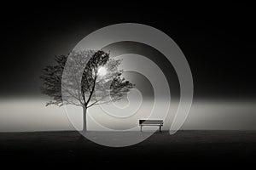
<path id="1" fill-rule="evenodd" d="M 178 131 L 172 136 L 157 132 L 124 148 L 79 139 L 78 132 L 0 133 L 2 165 L 246 167 L 256 156 L 255 131 Z"/>

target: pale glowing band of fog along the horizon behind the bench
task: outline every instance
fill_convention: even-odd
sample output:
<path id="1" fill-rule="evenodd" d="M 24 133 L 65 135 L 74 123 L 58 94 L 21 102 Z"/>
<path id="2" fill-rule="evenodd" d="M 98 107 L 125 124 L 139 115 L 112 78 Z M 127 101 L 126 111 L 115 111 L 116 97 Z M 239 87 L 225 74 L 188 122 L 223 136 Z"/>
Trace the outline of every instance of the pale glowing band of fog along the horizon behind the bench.
<path id="1" fill-rule="evenodd" d="M 82 128 L 82 110 L 79 107 L 45 107 L 47 99 L 1 99 L 0 100 L 0 131 L 1 132 L 32 132 L 60 131 Z M 183 130 L 256 130 L 255 101 L 231 100 L 195 100 L 189 116 L 183 124 Z M 160 107 L 161 102 L 155 103 Z M 119 105 L 120 106 L 120 105 Z M 172 124 L 177 102 L 172 102 L 168 116 L 164 122 L 164 130 Z M 147 118 L 152 109 L 150 101 L 144 102 L 132 116 L 124 109 L 123 118 L 114 120 L 102 111 L 100 106 L 88 110 L 88 129 L 102 131 L 106 128 L 116 130 L 139 130 L 138 119 Z M 159 110 L 160 111 L 160 110 Z M 67 114 L 68 112 L 68 114 Z M 122 115 L 123 114 L 123 115 Z M 125 117 L 125 114 L 127 114 Z M 71 117 L 72 116 L 72 117 Z M 125 117 L 125 118 L 124 118 Z M 154 118 L 162 118 L 154 116 Z M 96 123 L 95 122 L 98 122 Z M 73 123 L 72 123 L 72 122 Z M 75 127 L 73 127 L 75 126 Z M 151 127 L 144 127 L 151 130 Z"/>

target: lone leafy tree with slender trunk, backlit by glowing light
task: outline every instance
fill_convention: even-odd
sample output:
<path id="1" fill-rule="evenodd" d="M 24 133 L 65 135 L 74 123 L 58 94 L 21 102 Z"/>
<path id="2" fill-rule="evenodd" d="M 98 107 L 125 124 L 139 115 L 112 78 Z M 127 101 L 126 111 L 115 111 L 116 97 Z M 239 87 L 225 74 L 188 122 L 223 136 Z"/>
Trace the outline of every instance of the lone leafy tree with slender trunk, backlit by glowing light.
<path id="1" fill-rule="evenodd" d="M 55 65 L 47 65 L 40 77 L 43 80 L 42 93 L 51 99 L 46 106 L 82 106 L 83 131 L 86 132 L 88 108 L 123 99 L 134 87 L 134 84 L 121 77 L 123 71 L 118 69 L 120 63 L 121 59 L 110 58 L 102 50 L 73 51 L 68 55 L 55 56 Z M 68 68 L 66 72 L 65 67 Z"/>

